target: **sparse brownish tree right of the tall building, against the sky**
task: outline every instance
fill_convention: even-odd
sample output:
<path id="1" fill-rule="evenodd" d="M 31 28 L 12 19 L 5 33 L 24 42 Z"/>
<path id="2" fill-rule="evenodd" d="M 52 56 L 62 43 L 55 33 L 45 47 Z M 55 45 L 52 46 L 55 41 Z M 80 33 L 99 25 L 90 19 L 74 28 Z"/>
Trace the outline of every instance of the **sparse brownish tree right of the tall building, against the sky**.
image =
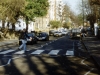
<path id="1" fill-rule="evenodd" d="M 63 20 L 65 20 L 65 21 L 63 21 L 64 27 L 66 27 L 66 25 L 67 25 L 67 27 L 72 27 L 72 23 L 70 23 L 70 20 L 73 23 L 78 23 L 78 20 L 76 19 L 77 16 L 74 14 L 74 12 L 70 9 L 70 7 L 67 4 L 64 5 L 64 9 L 62 12 L 62 18 L 63 18 Z"/>

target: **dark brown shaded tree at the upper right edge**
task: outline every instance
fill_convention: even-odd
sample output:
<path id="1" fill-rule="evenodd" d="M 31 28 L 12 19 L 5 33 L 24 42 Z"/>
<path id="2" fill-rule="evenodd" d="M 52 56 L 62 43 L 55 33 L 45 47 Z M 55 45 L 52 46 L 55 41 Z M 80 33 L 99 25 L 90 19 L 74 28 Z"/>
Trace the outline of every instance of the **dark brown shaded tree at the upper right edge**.
<path id="1" fill-rule="evenodd" d="M 94 28 L 94 23 L 98 23 L 100 19 L 100 0 L 88 0 L 90 13 L 87 15 L 87 20 L 90 21 L 91 28 Z"/>

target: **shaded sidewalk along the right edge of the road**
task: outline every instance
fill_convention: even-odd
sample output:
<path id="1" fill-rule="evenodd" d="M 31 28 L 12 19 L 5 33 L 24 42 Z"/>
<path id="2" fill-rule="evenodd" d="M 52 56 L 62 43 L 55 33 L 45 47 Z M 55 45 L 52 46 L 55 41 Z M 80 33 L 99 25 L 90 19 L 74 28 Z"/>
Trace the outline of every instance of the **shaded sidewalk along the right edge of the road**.
<path id="1" fill-rule="evenodd" d="M 96 37 L 85 37 L 82 39 L 87 51 L 93 58 L 96 66 L 100 69 L 100 40 Z"/>

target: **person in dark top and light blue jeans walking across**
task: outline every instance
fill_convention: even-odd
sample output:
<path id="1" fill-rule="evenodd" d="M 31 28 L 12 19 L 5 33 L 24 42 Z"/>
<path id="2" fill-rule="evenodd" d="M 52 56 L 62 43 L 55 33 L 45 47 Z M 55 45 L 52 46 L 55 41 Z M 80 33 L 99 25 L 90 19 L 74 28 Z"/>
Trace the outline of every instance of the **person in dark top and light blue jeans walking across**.
<path id="1" fill-rule="evenodd" d="M 20 45 L 20 47 L 18 48 L 18 50 L 23 50 L 23 53 L 26 52 L 26 43 L 27 43 L 27 39 L 28 39 L 28 35 L 27 35 L 27 31 L 26 29 L 23 29 L 23 31 L 20 34 L 20 40 L 22 41 L 22 44 Z"/>

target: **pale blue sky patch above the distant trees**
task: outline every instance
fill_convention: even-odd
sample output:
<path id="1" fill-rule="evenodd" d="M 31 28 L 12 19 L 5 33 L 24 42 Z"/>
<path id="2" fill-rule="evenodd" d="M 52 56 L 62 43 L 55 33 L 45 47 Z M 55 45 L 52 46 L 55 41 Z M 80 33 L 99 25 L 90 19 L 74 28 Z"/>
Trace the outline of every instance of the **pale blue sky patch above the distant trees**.
<path id="1" fill-rule="evenodd" d="M 81 3 L 81 0 L 63 0 L 63 1 L 70 6 L 71 10 L 75 12 L 75 14 L 79 14 L 79 3 Z"/>

